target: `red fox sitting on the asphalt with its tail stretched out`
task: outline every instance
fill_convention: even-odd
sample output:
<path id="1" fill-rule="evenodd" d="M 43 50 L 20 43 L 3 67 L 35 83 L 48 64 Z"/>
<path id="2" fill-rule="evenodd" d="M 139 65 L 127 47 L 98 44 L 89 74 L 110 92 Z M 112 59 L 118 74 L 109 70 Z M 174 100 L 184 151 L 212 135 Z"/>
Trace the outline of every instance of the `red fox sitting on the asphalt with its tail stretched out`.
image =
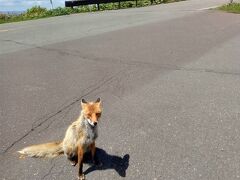
<path id="1" fill-rule="evenodd" d="M 95 140 L 98 136 L 97 124 L 102 113 L 101 100 L 98 98 L 96 102 L 86 102 L 82 99 L 81 107 L 80 116 L 68 127 L 62 141 L 25 147 L 18 151 L 21 157 L 54 158 L 65 154 L 72 165 L 79 164 L 78 179 L 84 180 L 82 168 L 85 152 L 90 151 L 93 162 L 100 165 L 95 154 Z"/>

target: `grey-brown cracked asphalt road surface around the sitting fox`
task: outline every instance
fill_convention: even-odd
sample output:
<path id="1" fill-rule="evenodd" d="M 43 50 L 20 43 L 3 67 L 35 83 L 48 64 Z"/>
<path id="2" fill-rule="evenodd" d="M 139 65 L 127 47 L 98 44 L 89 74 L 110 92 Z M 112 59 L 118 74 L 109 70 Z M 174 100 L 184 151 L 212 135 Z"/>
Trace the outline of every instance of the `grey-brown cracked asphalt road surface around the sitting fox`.
<path id="1" fill-rule="evenodd" d="M 76 179 L 64 157 L 17 150 L 63 138 L 101 97 L 87 179 L 240 179 L 240 16 L 191 0 L 0 25 L 0 179 Z"/>

